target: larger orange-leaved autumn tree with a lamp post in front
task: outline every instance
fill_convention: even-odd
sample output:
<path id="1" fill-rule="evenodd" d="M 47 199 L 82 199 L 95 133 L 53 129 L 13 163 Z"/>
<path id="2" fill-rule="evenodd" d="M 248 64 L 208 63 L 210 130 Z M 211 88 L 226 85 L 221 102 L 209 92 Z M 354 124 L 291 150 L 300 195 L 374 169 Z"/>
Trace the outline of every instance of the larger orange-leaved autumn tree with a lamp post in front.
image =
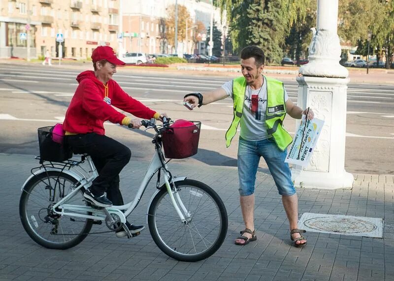
<path id="1" fill-rule="evenodd" d="M 186 6 L 178 4 L 178 42 L 186 38 L 186 21 L 191 27 L 193 22 L 190 18 L 190 13 Z M 170 5 L 167 8 L 167 19 L 165 20 L 166 37 L 168 43 L 175 45 L 175 5 Z"/>

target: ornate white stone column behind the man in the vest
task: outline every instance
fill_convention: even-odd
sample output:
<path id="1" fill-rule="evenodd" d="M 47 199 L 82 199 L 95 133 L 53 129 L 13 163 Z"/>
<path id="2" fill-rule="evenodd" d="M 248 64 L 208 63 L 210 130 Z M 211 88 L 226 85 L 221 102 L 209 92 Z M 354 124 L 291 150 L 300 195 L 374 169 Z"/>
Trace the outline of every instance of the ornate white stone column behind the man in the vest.
<path id="1" fill-rule="evenodd" d="M 292 169 L 295 185 L 305 188 L 349 188 L 354 181 L 344 168 L 349 72 L 339 64 L 337 21 L 338 0 L 318 0 L 309 63 L 300 67 L 297 77 L 298 106 L 309 106 L 316 118 L 325 120 L 308 166 L 295 165 Z"/>

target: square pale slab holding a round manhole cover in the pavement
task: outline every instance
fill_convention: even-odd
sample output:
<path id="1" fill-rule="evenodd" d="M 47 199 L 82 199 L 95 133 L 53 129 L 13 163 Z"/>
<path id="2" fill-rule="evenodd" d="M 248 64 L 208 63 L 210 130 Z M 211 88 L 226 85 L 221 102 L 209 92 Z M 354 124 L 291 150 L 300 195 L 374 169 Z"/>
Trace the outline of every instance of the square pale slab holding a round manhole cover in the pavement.
<path id="1" fill-rule="evenodd" d="M 383 219 L 375 217 L 305 212 L 299 219 L 298 226 L 310 232 L 383 237 Z"/>

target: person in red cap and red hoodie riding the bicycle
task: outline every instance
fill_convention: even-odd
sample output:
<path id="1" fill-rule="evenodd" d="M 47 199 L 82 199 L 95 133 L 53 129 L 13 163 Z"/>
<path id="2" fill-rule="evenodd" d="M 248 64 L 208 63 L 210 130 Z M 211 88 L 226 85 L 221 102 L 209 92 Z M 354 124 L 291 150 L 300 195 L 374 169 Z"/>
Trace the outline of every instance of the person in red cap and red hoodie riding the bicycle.
<path id="1" fill-rule="evenodd" d="M 160 114 L 137 100 L 131 98 L 117 82 L 112 80 L 117 65 L 125 63 L 116 57 L 109 46 L 99 46 L 92 53 L 94 71 L 81 72 L 76 80 L 79 85 L 68 106 L 64 129 L 66 142 L 76 154 L 87 153 L 99 172 L 92 186 L 84 193 L 86 201 L 97 207 L 124 205 L 119 190 L 119 173 L 129 163 L 130 149 L 124 144 L 105 136 L 104 121 L 131 124 L 139 128 L 139 119 L 131 119 L 111 105 L 133 114 L 136 117 L 162 120 Z M 106 192 L 106 195 L 104 195 Z M 131 233 L 143 230 L 144 226 L 126 223 Z M 117 237 L 127 233 L 121 229 Z"/>

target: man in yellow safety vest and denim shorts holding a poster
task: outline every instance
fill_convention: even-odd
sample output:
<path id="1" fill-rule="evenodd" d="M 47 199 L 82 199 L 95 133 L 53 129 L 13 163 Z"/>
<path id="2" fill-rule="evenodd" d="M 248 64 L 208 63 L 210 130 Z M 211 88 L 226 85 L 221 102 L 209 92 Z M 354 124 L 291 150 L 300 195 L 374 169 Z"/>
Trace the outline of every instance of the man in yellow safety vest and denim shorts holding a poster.
<path id="1" fill-rule="evenodd" d="M 306 239 L 297 227 L 298 199 L 291 179 L 289 165 L 285 163 L 287 146 L 292 137 L 282 123 L 288 113 L 296 119 L 308 113 L 288 97 L 283 82 L 263 76 L 265 56 L 257 46 L 247 46 L 241 51 L 241 77 L 225 83 L 221 88 L 208 93 L 188 94 L 184 102 L 194 108 L 231 97 L 234 103 L 233 120 L 226 133 L 226 145 L 230 146 L 240 123 L 238 145 L 239 195 L 245 230 L 235 239 L 236 245 L 256 241 L 254 228 L 255 181 L 260 157 L 263 156 L 274 178 L 290 223 L 290 237 L 295 246 L 306 245 Z"/>

